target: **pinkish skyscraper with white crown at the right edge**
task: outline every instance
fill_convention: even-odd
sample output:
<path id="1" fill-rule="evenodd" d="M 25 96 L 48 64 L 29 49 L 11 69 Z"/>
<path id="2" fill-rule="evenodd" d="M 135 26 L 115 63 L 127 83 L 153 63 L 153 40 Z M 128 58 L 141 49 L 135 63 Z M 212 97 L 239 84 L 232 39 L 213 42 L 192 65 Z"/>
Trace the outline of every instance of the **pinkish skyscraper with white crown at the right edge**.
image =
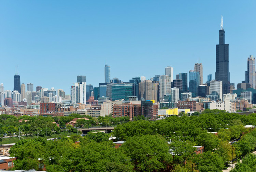
<path id="1" fill-rule="evenodd" d="M 245 81 L 250 84 L 250 87 L 256 89 L 256 74 L 255 74 L 255 57 L 250 55 L 247 58 L 247 71 L 245 71 Z"/>

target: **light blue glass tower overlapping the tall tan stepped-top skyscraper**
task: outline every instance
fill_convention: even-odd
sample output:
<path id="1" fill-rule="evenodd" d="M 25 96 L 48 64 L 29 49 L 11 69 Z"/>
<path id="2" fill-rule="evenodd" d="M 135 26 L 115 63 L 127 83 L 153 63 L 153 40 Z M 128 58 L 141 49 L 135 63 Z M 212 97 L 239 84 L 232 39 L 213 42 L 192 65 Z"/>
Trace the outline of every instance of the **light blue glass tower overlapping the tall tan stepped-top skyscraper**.
<path id="1" fill-rule="evenodd" d="M 195 72 L 193 70 L 189 71 L 189 92 L 192 93 L 192 97 L 197 96 L 197 87 L 200 85 L 200 74 L 199 72 Z"/>

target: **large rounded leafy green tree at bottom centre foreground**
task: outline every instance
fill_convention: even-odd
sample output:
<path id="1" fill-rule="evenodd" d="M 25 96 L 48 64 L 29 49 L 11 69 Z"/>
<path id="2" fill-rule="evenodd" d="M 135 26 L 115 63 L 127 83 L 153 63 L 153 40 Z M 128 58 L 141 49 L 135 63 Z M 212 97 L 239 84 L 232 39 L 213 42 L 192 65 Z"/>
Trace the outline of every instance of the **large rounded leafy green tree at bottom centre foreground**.
<path id="1" fill-rule="evenodd" d="M 160 135 L 131 137 L 119 149 L 131 157 L 136 171 L 161 171 L 172 161 L 166 140 Z"/>

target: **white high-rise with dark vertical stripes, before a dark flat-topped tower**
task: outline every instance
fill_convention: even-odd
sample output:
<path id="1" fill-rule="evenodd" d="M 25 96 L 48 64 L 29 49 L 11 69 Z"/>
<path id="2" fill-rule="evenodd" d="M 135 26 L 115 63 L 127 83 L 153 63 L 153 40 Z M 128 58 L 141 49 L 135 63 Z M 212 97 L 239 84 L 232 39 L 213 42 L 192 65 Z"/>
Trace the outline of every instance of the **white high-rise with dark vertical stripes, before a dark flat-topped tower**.
<path id="1" fill-rule="evenodd" d="M 74 83 L 70 93 L 71 103 L 86 104 L 86 82 Z"/>

